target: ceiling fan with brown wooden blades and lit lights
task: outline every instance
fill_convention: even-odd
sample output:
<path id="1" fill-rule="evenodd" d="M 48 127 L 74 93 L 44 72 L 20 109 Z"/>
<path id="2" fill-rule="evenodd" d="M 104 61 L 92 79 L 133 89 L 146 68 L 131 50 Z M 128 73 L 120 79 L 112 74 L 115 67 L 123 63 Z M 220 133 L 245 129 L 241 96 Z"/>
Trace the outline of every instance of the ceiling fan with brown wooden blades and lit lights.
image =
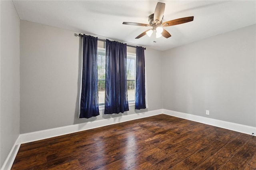
<path id="1" fill-rule="evenodd" d="M 142 36 L 145 36 L 146 34 L 150 37 L 153 32 L 154 32 L 154 38 L 159 38 L 161 36 L 163 36 L 165 38 L 169 38 L 171 36 L 171 34 L 168 31 L 164 30 L 163 27 L 183 24 L 183 23 L 190 22 L 190 21 L 194 20 L 194 16 L 189 16 L 189 17 L 185 17 L 185 18 L 179 18 L 176 20 L 170 20 L 170 21 L 163 22 L 164 8 L 165 8 L 165 3 L 158 2 L 156 4 L 156 9 L 155 9 L 154 14 L 151 14 L 150 16 L 148 16 L 149 24 L 141 24 L 141 23 L 136 23 L 136 22 L 123 22 L 123 24 L 132 25 L 132 26 L 152 27 L 151 29 L 142 32 L 142 34 L 138 35 L 135 39 L 141 38 Z M 154 42 L 156 42 L 156 41 L 154 40 Z"/>

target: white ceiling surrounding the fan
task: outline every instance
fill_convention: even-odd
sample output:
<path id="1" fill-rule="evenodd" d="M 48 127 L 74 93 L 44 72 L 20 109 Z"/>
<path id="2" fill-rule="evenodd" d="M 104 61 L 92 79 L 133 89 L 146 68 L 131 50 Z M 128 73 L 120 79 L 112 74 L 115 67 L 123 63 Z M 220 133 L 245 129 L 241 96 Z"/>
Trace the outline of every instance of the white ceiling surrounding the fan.
<path id="1" fill-rule="evenodd" d="M 148 36 L 135 39 L 149 28 L 122 22 L 148 24 L 148 16 L 154 13 L 157 2 L 166 4 L 163 22 L 187 16 L 194 16 L 194 21 L 165 27 L 172 36 L 157 38 L 156 43 Z M 21 20 L 161 51 L 256 24 L 255 0 L 18 0 L 13 3 Z"/>

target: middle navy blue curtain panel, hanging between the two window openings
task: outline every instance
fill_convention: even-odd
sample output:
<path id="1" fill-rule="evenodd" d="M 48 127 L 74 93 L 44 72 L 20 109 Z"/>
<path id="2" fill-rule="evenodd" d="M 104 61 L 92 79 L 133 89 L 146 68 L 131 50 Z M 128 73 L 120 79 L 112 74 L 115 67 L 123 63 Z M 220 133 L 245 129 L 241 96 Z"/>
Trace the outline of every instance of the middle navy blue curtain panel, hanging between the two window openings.
<path id="1" fill-rule="evenodd" d="M 126 87 L 126 44 L 106 40 L 106 84 L 104 114 L 129 110 Z"/>

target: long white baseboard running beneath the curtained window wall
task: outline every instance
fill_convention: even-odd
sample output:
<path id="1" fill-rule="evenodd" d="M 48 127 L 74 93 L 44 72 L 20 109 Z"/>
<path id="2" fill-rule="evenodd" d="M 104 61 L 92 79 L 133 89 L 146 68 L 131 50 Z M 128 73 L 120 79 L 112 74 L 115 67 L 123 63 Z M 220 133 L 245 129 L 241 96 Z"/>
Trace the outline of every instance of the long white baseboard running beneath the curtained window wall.
<path id="1" fill-rule="evenodd" d="M 141 119 L 144 117 L 150 117 L 150 116 L 159 115 L 159 114 L 162 114 L 162 109 L 143 112 L 143 113 L 134 113 L 131 115 L 122 115 L 122 117 L 112 117 L 109 119 L 102 119 L 98 121 L 80 123 L 80 124 L 69 125 L 65 127 L 51 128 L 47 130 L 24 133 L 24 134 L 20 134 L 20 143 L 23 144 L 23 143 L 33 142 L 36 140 L 52 138 L 52 137 L 61 136 L 64 134 L 70 134 L 70 133 L 79 132 L 82 130 L 88 130 L 92 128 L 104 127 L 107 125 L 113 125 L 116 123 L 132 121 L 135 119 Z"/>

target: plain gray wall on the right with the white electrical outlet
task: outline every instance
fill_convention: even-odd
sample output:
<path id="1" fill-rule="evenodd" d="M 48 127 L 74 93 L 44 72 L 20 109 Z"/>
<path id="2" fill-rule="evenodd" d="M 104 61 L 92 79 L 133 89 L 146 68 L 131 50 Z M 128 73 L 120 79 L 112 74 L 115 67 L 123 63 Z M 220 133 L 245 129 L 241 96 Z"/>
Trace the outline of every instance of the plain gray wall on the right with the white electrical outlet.
<path id="1" fill-rule="evenodd" d="M 162 65 L 164 109 L 256 127 L 256 25 L 164 51 Z"/>

